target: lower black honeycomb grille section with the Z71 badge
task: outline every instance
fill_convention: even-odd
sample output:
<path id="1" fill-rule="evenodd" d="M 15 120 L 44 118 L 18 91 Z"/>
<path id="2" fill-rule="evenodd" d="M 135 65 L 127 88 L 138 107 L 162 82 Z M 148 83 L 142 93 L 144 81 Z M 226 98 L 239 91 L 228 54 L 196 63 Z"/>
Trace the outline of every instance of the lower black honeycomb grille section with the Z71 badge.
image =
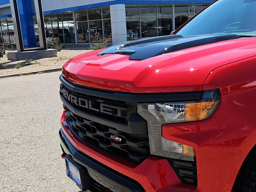
<path id="1" fill-rule="evenodd" d="M 150 155 L 147 134 L 129 134 L 116 128 L 82 118 L 64 106 L 65 117 L 77 136 L 112 156 L 140 163 Z M 112 138 L 112 139 L 111 139 Z M 113 139 L 114 138 L 114 139 Z"/>

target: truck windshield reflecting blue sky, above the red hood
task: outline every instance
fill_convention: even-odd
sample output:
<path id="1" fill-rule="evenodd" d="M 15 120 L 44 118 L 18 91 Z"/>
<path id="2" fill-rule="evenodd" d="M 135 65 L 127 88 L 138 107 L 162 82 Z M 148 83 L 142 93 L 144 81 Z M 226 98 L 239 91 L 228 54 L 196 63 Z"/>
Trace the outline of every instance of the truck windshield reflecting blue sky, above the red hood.
<path id="1" fill-rule="evenodd" d="M 176 34 L 232 33 L 256 36 L 256 0 L 218 0 Z"/>

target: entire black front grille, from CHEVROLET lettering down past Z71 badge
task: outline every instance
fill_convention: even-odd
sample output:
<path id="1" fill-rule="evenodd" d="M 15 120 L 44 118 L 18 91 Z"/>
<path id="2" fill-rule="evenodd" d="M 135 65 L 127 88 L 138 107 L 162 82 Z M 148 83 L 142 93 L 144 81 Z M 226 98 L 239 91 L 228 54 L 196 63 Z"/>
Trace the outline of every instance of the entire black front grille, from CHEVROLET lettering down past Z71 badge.
<path id="1" fill-rule="evenodd" d="M 137 163 L 150 155 L 147 122 L 138 114 L 137 102 L 84 94 L 63 84 L 60 97 L 69 128 L 87 144 Z M 84 102 L 78 103 L 81 98 Z"/>

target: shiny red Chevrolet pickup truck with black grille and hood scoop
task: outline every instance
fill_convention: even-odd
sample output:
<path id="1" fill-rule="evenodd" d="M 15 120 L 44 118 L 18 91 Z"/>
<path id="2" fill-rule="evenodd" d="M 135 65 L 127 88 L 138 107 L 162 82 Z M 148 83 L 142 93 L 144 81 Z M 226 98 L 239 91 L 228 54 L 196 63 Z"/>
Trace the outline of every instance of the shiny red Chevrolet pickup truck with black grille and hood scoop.
<path id="1" fill-rule="evenodd" d="M 67 175 L 92 192 L 256 191 L 256 0 L 70 59 Z"/>

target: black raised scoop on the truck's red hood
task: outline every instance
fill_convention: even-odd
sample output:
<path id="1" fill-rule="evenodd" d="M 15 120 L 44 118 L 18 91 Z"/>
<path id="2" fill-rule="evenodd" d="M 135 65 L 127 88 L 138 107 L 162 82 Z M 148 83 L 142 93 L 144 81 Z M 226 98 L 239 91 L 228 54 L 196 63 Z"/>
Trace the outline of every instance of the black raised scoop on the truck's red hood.
<path id="1" fill-rule="evenodd" d="M 144 60 L 165 53 L 237 38 L 240 38 L 240 36 L 234 34 L 210 34 L 189 37 L 169 35 L 143 38 L 113 45 L 100 52 L 98 56 L 104 54 L 124 54 L 129 55 L 130 60 Z"/>

